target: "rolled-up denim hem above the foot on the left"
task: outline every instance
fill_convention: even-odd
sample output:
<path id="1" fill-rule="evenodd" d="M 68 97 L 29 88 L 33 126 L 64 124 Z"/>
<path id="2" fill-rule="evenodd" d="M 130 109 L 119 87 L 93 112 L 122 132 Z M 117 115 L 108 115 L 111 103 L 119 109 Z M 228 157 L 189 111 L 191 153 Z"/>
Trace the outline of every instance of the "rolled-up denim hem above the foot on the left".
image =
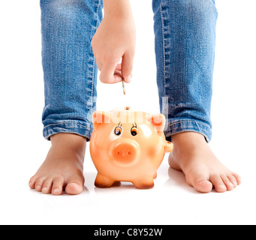
<path id="1" fill-rule="evenodd" d="M 43 134 L 44 138 L 50 140 L 50 136 L 56 133 L 76 133 L 80 136 L 85 136 L 87 142 L 89 142 L 92 136 L 92 127 L 86 126 L 81 121 L 60 121 L 53 124 L 48 124 L 44 127 Z"/>

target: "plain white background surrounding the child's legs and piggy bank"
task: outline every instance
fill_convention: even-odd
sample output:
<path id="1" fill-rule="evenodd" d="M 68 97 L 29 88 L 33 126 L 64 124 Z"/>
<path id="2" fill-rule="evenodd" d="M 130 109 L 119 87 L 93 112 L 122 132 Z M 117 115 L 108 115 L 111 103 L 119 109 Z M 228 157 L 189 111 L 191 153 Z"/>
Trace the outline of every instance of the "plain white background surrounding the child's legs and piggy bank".
<path id="1" fill-rule="evenodd" d="M 129 104 L 158 113 L 151 1 L 131 0 L 137 23 L 134 78 L 122 86 L 98 83 L 98 109 Z M 44 195 L 29 178 L 50 142 L 42 136 L 44 83 L 39 1 L 0 1 L 0 223 L 1 224 L 255 224 L 256 223 L 256 15 L 254 0 L 216 0 L 217 43 L 210 145 L 242 176 L 227 193 L 197 193 L 167 156 L 155 188 L 131 184 L 94 187 L 95 167 L 86 153 L 86 188 L 79 196 Z M 126 99 L 127 98 L 127 99 Z"/>

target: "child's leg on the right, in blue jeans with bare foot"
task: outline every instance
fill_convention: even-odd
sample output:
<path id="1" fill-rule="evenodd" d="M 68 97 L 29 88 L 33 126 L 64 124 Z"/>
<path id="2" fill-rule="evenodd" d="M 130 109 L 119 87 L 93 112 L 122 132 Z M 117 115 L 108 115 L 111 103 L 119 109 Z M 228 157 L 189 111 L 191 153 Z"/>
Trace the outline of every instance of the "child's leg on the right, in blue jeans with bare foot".
<path id="1" fill-rule="evenodd" d="M 153 0 L 161 110 L 174 143 L 170 166 L 196 190 L 232 190 L 239 176 L 212 151 L 210 120 L 217 10 L 214 0 Z M 165 97 L 165 98 L 164 98 Z"/>

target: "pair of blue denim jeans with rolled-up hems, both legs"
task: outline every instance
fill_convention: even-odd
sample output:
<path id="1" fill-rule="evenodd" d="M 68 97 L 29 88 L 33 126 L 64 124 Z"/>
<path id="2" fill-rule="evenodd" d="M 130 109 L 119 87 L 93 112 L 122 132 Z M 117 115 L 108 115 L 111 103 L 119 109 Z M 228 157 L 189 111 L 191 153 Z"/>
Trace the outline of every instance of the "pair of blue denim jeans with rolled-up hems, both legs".
<path id="1" fill-rule="evenodd" d="M 214 0 L 153 0 L 155 57 L 167 139 L 194 131 L 209 142 L 217 10 Z M 91 40 L 102 0 L 41 0 L 44 137 L 77 133 L 89 140 L 98 68 Z"/>

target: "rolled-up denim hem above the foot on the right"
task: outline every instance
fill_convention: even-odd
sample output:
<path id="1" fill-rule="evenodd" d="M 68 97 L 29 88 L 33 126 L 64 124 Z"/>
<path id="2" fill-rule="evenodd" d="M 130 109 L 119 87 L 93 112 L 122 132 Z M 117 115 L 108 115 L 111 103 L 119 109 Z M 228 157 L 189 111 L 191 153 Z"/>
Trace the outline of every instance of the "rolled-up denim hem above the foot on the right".
<path id="1" fill-rule="evenodd" d="M 190 131 L 201 133 L 205 137 L 206 142 L 210 142 L 212 139 L 212 129 L 208 124 L 190 119 L 182 119 L 168 124 L 167 129 L 164 132 L 166 139 L 171 141 L 171 136 L 174 134 Z"/>

